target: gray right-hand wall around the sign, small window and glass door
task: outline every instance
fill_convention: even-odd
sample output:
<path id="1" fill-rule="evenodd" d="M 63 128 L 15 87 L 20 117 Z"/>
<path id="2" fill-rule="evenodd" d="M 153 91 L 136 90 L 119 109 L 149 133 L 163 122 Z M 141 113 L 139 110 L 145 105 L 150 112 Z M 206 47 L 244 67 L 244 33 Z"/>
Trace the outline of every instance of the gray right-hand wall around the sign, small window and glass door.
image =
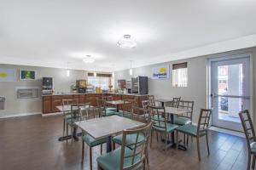
<path id="1" fill-rule="evenodd" d="M 197 123 L 199 112 L 201 108 L 207 108 L 207 99 L 208 99 L 208 91 L 207 91 L 207 62 L 210 58 L 216 58 L 226 55 L 232 54 L 242 54 L 249 53 L 253 55 L 253 80 L 254 86 L 253 89 L 256 88 L 256 48 L 247 48 L 236 50 L 232 52 L 222 53 L 222 54 L 212 54 L 207 56 L 201 56 L 191 59 L 182 59 L 172 62 L 166 62 L 157 65 L 148 65 L 139 68 L 133 69 L 133 76 L 147 76 L 148 80 L 148 91 L 149 94 L 154 94 L 155 98 L 162 99 L 172 99 L 173 97 L 182 97 L 184 100 L 193 100 L 195 101 L 195 110 L 193 116 L 193 122 Z M 180 62 L 188 62 L 188 87 L 187 88 L 174 88 L 172 87 L 172 64 L 180 63 Z M 152 67 L 158 65 L 170 65 L 170 77 L 166 80 L 154 80 L 151 79 Z M 117 87 L 118 79 L 129 79 L 129 71 L 117 71 L 115 72 L 115 84 Z M 256 94 L 256 90 L 254 90 L 254 96 Z M 256 101 L 254 100 L 253 112 L 256 111 Z M 255 122 L 255 117 L 254 122 Z"/>

